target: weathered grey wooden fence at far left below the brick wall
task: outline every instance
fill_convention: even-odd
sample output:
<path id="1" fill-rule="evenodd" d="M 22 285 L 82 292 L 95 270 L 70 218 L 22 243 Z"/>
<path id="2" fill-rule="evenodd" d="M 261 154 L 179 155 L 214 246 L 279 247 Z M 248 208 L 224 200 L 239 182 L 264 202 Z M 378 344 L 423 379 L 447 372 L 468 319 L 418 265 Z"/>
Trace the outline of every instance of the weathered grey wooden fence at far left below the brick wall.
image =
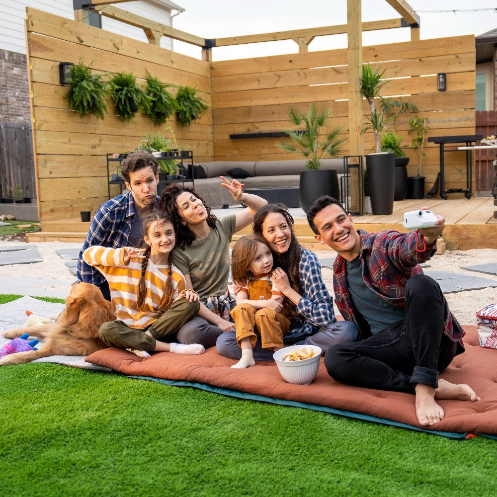
<path id="1" fill-rule="evenodd" d="M 0 183 L 1 198 L 10 193 L 22 197 L 36 197 L 31 126 L 22 123 L 0 122 Z M 20 200 L 24 200 L 21 198 Z"/>

